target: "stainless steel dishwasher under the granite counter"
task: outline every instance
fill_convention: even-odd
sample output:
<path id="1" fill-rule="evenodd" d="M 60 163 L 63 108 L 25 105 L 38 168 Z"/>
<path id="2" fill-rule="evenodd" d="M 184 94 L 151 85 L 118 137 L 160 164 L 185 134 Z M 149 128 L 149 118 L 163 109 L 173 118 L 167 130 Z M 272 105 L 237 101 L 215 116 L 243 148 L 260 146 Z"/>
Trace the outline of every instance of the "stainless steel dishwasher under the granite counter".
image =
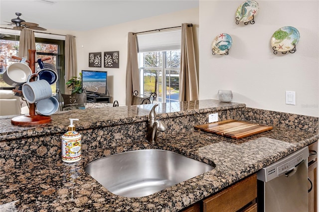
<path id="1" fill-rule="evenodd" d="M 308 212 L 308 146 L 257 173 L 258 212 Z"/>

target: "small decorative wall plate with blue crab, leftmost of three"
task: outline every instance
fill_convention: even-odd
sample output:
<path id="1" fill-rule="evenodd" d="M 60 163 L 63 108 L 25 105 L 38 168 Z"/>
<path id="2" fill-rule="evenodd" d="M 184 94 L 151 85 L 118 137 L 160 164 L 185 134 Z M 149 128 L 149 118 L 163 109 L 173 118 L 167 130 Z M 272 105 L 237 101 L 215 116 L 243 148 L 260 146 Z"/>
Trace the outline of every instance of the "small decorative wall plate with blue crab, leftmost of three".
<path id="1" fill-rule="evenodd" d="M 228 54 L 228 50 L 230 49 L 232 43 L 233 41 L 229 34 L 221 33 L 217 35 L 211 44 L 213 54 Z"/>

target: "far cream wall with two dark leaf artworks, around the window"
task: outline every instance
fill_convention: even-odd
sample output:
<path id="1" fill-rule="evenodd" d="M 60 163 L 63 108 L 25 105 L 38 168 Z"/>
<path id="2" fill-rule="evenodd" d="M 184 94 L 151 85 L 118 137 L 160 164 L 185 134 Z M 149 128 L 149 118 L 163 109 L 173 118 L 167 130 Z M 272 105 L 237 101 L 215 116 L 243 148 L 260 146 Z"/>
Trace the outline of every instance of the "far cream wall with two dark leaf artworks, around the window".
<path id="1" fill-rule="evenodd" d="M 126 22 L 96 30 L 76 32 L 78 73 L 81 70 L 97 70 L 108 72 L 108 90 L 113 101 L 125 105 L 127 35 L 128 32 L 140 32 L 165 27 L 180 26 L 181 23 L 193 23 L 195 30 L 196 49 L 198 51 L 199 8 L 183 10 L 137 21 Z M 120 68 L 89 68 L 90 52 L 120 51 Z M 198 61 L 198 58 L 197 58 Z"/>

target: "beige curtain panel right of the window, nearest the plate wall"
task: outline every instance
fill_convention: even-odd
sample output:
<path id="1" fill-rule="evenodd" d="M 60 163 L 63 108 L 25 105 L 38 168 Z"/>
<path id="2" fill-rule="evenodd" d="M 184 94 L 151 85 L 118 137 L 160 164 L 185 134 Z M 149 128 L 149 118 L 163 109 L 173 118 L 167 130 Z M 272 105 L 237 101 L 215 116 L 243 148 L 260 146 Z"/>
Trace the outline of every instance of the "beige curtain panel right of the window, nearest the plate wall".
<path id="1" fill-rule="evenodd" d="M 195 62 L 193 28 L 191 24 L 182 23 L 179 72 L 179 101 L 193 101 L 198 99 L 198 80 Z"/>

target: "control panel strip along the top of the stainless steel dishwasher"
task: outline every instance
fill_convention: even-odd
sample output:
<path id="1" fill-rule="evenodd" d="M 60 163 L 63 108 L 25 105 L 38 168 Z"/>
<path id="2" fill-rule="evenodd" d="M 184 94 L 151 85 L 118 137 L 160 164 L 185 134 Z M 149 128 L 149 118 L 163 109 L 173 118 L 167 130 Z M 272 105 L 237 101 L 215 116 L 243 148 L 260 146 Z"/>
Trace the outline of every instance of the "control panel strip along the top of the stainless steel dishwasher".
<path id="1" fill-rule="evenodd" d="M 279 161 L 270 164 L 269 166 L 262 168 L 257 173 L 257 179 L 263 182 L 271 181 L 272 179 L 279 177 L 286 172 L 295 168 L 303 161 L 308 163 L 309 150 L 308 146 L 280 159 Z"/>

